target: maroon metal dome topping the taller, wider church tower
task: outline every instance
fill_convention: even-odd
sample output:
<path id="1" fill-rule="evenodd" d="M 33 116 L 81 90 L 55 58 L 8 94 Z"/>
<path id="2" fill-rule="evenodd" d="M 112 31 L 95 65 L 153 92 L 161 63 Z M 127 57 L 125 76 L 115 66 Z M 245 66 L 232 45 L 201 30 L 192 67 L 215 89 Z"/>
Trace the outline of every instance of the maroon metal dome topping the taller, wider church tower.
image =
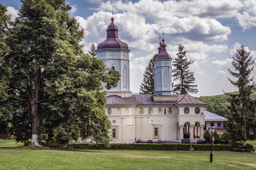
<path id="1" fill-rule="evenodd" d="M 118 38 L 118 29 L 114 24 L 114 18 L 111 18 L 110 26 L 107 27 L 107 39 L 104 42 L 101 42 L 97 46 L 97 50 L 103 48 L 122 48 L 128 50 L 128 45 L 125 42 L 122 42 Z"/>

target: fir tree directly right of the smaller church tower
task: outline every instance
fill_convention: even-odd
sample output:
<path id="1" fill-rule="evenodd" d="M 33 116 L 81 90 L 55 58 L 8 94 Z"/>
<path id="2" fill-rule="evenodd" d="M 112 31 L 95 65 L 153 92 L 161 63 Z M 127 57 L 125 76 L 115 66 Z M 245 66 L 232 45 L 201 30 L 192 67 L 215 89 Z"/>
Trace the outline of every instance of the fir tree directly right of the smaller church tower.
<path id="1" fill-rule="evenodd" d="M 183 45 L 178 45 L 178 53 L 176 54 L 178 57 L 174 58 L 174 69 L 172 69 L 172 77 L 174 83 L 176 83 L 173 86 L 173 91 L 176 94 L 196 94 L 198 92 L 193 72 L 188 69 L 194 61 L 188 61 L 186 52 Z"/>

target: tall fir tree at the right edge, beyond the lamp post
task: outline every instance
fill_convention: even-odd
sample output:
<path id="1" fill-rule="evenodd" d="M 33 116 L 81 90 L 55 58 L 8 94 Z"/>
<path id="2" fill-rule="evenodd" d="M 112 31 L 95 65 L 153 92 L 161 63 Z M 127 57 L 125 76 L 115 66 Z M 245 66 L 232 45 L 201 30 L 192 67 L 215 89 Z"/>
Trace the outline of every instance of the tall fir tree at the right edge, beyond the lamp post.
<path id="1" fill-rule="evenodd" d="M 232 65 L 235 72 L 228 69 L 230 75 L 237 79 L 233 81 L 228 78 L 231 84 L 238 87 L 238 94 L 231 94 L 229 98 L 230 113 L 228 114 L 227 128 L 233 140 L 243 140 L 244 145 L 247 140 L 256 139 L 255 101 L 250 98 L 254 87 L 253 77 L 250 77 L 254 62 L 250 52 L 247 52 L 245 46 L 241 45 L 233 57 Z M 252 85 L 250 85 L 251 83 Z"/>

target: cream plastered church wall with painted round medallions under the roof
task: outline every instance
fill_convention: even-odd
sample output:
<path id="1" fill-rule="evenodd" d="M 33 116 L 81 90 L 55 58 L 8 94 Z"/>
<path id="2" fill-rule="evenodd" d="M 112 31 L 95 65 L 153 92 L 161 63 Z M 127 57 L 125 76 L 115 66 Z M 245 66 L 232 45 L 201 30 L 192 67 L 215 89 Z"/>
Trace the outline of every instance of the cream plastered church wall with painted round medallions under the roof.
<path id="1" fill-rule="evenodd" d="M 203 130 L 205 115 L 201 114 L 202 112 L 195 113 L 195 108 L 198 106 L 188 106 L 190 112 L 185 114 L 184 108 L 186 107 L 174 105 L 107 106 L 106 114 L 112 123 L 112 130 L 115 129 L 117 133 L 116 137 L 112 137 L 112 142 L 177 140 L 180 139 L 180 128 L 183 128 L 186 122 L 189 122 L 191 127 L 200 123 Z M 203 106 L 199 108 L 204 111 Z M 158 135 L 155 135 L 155 128 L 158 129 Z M 110 135 L 112 135 L 112 130 Z"/>

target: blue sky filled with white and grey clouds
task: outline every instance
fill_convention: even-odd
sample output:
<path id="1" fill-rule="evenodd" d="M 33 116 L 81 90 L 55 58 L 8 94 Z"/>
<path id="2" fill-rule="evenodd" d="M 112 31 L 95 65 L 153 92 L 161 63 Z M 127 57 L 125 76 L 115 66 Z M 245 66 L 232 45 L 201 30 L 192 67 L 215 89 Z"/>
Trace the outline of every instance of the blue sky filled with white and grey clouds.
<path id="1" fill-rule="evenodd" d="M 17 16 L 19 0 L 1 0 L 8 13 Z M 164 31 L 167 50 L 176 57 L 178 44 L 195 60 L 191 71 L 196 77 L 198 94 L 209 96 L 235 91 L 228 81 L 228 68 L 236 48 L 243 43 L 256 58 L 255 0 L 194 1 L 100 1 L 70 0 L 70 16 L 85 30 L 85 52 L 90 45 L 105 40 L 114 7 L 114 23 L 119 39 L 127 42 L 130 52 L 130 88 L 139 92 L 144 68 L 157 52 L 159 33 Z M 256 72 L 252 72 L 256 75 Z M 233 79 L 233 77 L 230 77 Z"/>

